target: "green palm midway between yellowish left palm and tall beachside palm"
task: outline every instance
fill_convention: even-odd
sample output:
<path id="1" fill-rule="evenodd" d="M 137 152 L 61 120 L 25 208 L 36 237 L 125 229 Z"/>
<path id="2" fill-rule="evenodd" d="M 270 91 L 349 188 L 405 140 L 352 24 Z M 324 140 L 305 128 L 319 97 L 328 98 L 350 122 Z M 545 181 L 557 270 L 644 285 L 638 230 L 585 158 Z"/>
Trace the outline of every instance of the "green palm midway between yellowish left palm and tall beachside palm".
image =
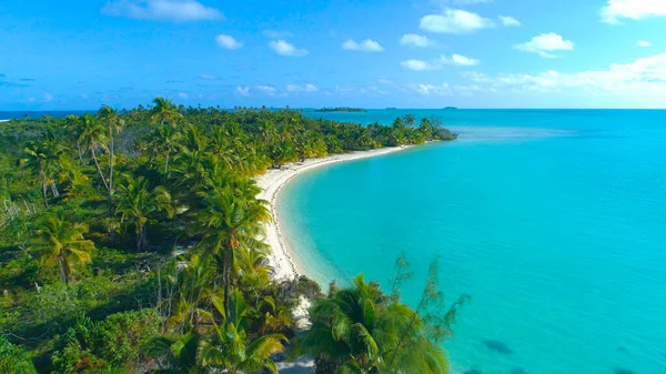
<path id="1" fill-rule="evenodd" d="M 148 180 L 143 176 L 134 179 L 125 175 L 125 183 L 118 191 L 115 213 L 120 214 L 121 223 L 129 221 L 134 224 L 137 233 L 137 250 L 148 245 L 147 223 L 155 212 L 163 211 L 169 218 L 174 213 L 171 206 L 171 195 L 162 186 L 149 191 Z"/>

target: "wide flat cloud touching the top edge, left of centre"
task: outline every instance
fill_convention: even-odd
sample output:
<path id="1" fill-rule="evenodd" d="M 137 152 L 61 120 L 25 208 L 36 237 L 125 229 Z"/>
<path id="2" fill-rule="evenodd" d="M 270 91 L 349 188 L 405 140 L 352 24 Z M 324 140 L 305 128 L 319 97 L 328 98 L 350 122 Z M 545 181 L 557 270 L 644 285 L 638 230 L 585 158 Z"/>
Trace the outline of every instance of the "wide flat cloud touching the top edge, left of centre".
<path id="1" fill-rule="evenodd" d="M 174 22 L 224 19 L 218 9 L 205 7 L 195 0 L 114 0 L 102 8 L 102 13 Z"/>

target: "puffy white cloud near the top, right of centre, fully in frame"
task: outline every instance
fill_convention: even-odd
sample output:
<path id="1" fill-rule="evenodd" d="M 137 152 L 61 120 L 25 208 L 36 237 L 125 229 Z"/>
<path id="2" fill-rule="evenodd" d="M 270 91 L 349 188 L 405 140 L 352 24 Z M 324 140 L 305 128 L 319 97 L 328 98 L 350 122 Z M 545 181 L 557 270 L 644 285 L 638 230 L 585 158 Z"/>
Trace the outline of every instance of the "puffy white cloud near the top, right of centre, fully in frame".
<path id="1" fill-rule="evenodd" d="M 471 33 L 494 26 L 487 18 L 460 9 L 444 9 L 443 14 L 424 16 L 420 23 L 422 30 L 438 33 Z"/>

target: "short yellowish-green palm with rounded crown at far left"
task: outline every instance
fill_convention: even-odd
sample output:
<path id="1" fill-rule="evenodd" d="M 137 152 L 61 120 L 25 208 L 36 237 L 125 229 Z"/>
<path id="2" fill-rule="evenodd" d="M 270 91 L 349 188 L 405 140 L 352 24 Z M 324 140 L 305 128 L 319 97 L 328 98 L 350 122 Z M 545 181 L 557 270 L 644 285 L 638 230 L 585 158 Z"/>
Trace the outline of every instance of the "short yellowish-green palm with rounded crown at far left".
<path id="1" fill-rule="evenodd" d="M 49 215 L 38 224 L 36 250 L 41 264 L 58 264 L 60 281 L 63 283 L 72 281 L 75 265 L 92 261 L 90 251 L 94 249 L 94 244 L 83 237 L 85 233 L 87 224 L 72 222 L 71 216 L 62 213 Z"/>

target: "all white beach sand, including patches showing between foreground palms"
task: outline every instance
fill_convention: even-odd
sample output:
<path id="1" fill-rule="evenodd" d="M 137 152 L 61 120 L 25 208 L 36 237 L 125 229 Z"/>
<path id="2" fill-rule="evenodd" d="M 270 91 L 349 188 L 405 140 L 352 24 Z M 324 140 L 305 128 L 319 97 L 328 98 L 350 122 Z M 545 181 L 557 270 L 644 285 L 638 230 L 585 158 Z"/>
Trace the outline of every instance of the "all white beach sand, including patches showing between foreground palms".
<path id="1" fill-rule="evenodd" d="M 262 189 L 262 192 L 258 195 L 258 198 L 269 201 L 269 209 L 271 210 L 271 215 L 273 219 L 272 222 L 266 223 L 265 225 L 266 234 L 264 239 L 264 241 L 271 246 L 269 262 L 273 269 L 273 279 L 278 282 L 281 282 L 296 279 L 300 275 L 307 275 L 307 271 L 303 264 L 294 261 L 295 256 L 293 255 L 293 250 L 282 233 L 280 218 L 275 208 L 280 191 L 284 185 L 286 185 L 286 183 L 300 174 L 332 163 L 393 153 L 405 150 L 410 146 L 411 145 L 383 148 L 372 151 L 334 154 L 322 159 L 309 159 L 303 162 L 283 165 L 281 169 L 271 169 L 265 174 L 255 178 L 256 184 Z M 296 321 L 296 330 L 305 330 L 310 326 L 310 321 L 307 319 L 307 310 L 310 309 L 310 305 L 311 303 L 307 299 L 301 297 L 301 303 L 294 309 L 293 315 L 294 320 Z M 303 358 L 295 363 L 276 363 L 276 365 L 280 370 L 280 373 L 283 374 L 314 373 L 314 362 L 311 358 Z"/>

